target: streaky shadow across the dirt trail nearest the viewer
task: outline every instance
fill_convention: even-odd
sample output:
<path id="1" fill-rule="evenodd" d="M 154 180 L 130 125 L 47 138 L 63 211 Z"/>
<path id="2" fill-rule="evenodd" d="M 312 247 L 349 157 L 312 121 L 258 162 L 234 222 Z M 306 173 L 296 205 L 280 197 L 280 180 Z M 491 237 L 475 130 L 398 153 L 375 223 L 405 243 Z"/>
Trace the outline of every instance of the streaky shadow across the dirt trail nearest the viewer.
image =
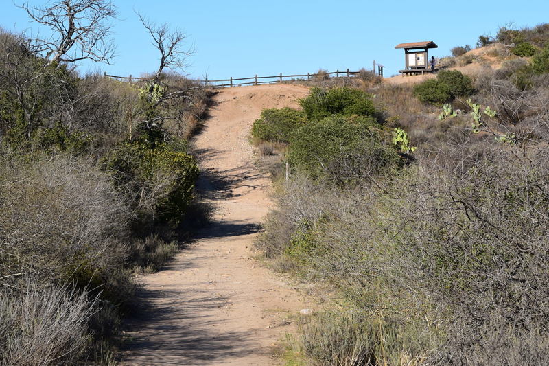
<path id="1" fill-rule="evenodd" d="M 139 337 L 138 334 L 135 334 L 136 338 L 131 335 L 128 337 L 125 348 L 132 353 L 132 358 L 150 359 L 148 356 L 154 354 L 162 365 L 181 365 L 182 361 L 189 365 L 205 365 L 217 359 L 244 356 L 250 352 L 250 341 L 253 340 L 244 332 L 219 332 L 216 329 L 220 325 L 219 321 L 211 321 L 207 315 L 192 315 L 205 309 L 226 306 L 225 297 L 196 298 L 194 293 L 194 299 L 185 300 L 181 299 L 185 297 L 185 291 L 181 293 L 142 289 L 140 292 L 140 297 L 149 301 L 139 316 L 128 323 L 130 334 L 138 332 L 140 325 L 149 323 L 150 319 L 154 319 L 154 324 L 158 325 L 148 326 L 146 337 Z M 152 305 L 152 301 L 159 298 L 173 298 L 174 301 Z M 182 327 L 181 324 L 185 326 Z M 195 325 L 199 325 L 198 328 Z M 205 330 L 205 327 L 211 327 L 212 332 Z M 139 363 L 155 364 L 155 361 Z"/>

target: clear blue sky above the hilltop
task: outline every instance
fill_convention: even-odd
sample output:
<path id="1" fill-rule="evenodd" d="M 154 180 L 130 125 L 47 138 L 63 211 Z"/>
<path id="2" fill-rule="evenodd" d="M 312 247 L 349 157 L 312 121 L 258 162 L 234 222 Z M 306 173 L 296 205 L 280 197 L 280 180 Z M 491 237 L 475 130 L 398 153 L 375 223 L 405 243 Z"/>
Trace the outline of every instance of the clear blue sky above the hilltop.
<path id="1" fill-rule="evenodd" d="M 10 31 L 39 30 L 12 0 L 0 0 L 0 25 Z M 15 0 L 21 4 L 22 1 Z M 42 5 L 47 0 L 30 0 Z M 336 71 L 386 65 L 386 76 L 403 67 L 402 42 L 434 41 L 430 55 L 448 55 L 456 45 L 474 46 L 498 27 L 549 22 L 548 0 L 424 1 L 187 1 L 114 0 L 118 56 L 113 65 L 84 64 L 80 70 L 139 76 L 157 67 L 158 54 L 134 10 L 185 31 L 196 53 L 186 73 L 193 78 L 247 77 Z M 406 11 L 401 10 L 406 8 Z M 44 31 L 42 31 L 44 33 Z"/>

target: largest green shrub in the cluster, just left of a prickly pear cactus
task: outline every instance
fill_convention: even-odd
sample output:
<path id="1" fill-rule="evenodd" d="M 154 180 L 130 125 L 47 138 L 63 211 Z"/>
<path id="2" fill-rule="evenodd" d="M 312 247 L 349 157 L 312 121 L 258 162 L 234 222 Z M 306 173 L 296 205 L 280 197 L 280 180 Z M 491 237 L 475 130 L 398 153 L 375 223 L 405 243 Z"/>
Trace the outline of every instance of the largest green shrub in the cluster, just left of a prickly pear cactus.
<path id="1" fill-rule="evenodd" d="M 297 128 L 288 161 L 314 178 L 342 183 L 386 172 L 400 159 L 375 119 L 333 116 Z"/>

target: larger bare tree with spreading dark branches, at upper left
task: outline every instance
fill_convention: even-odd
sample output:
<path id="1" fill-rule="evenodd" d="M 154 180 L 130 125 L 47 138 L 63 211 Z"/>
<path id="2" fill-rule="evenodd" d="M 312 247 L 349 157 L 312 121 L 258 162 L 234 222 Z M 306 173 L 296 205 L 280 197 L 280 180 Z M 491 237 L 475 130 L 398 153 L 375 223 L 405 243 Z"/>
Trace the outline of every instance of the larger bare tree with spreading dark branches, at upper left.
<path id="1" fill-rule="evenodd" d="M 107 21 L 117 11 L 110 0 L 58 0 L 43 8 L 23 3 L 21 8 L 53 31 L 51 37 L 35 41 L 38 52 L 45 53 L 45 65 L 80 60 L 108 63 L 113 58 L 112 25 Z"/>

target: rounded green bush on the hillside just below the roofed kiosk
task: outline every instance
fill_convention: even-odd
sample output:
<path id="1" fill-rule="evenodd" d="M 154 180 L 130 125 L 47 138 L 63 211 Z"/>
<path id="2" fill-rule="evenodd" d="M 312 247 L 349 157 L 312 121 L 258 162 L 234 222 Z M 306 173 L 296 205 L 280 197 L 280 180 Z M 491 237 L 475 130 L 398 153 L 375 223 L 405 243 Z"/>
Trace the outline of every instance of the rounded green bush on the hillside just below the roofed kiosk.
<path id="1" fill-rule="evenodd" d="M 451 102 L 457 96 L 473 93 L 473 83 L 469 76 L 460 71 L 440 71 L 435 79 L 425 80 L 414 86 L 414 95 L 429 104 Z"/>

